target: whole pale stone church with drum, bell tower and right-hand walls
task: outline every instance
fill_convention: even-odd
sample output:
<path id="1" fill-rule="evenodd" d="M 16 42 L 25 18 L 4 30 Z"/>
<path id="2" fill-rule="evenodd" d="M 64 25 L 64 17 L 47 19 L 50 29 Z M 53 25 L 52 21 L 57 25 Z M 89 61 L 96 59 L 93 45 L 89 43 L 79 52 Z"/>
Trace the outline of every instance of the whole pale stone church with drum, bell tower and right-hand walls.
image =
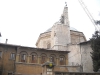
<path id="1" fill-rule="evenodd" d="M 40 34 L 36 46 L 37 48 L 70 51 L 68 54 L 69 66 L 80 66 L 80 71 L 93 72 L 90 57 L 92 49 L 90 43 L 86 44 L 86 42 L 82 32 L 70 27 L 68 7 L 65 6 L 60 22 L 56 22 L 50 29 Z"/>

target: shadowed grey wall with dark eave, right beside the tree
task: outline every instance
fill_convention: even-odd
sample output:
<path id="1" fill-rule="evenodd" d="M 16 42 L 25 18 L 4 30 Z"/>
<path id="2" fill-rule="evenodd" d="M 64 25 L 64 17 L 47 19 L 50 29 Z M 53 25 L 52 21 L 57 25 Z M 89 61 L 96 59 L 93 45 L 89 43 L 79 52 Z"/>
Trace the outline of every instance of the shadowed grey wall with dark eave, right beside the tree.
<path id="1" fill-rule="evenodd" d="M 93 72 L 93 63 L 90 52 L 92 49 L 90 47 L 90 42 L 84 42 L 80 44 L 81 47 L 81 61 L 83 65 L 83 72 Z"/>

